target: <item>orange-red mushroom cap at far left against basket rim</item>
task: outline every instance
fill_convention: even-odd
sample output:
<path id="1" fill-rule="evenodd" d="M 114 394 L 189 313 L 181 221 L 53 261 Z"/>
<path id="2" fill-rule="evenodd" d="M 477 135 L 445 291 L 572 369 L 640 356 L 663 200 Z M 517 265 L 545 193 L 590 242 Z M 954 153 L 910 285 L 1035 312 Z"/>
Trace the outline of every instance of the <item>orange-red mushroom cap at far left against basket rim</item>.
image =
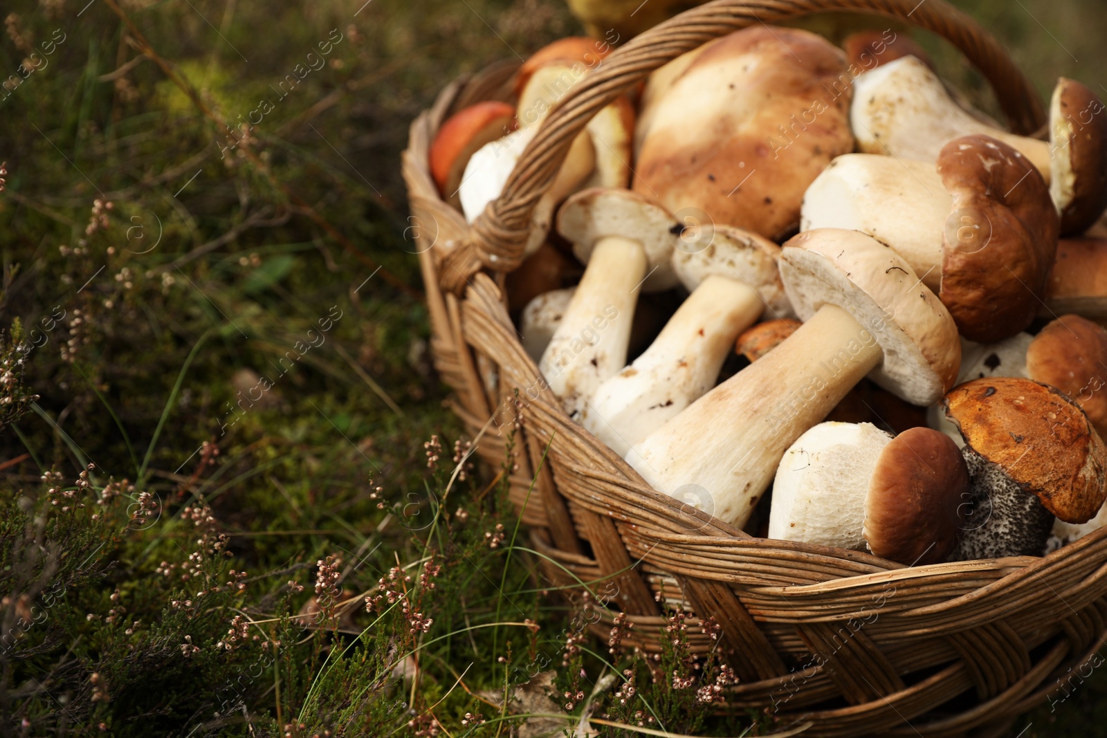
<path id="1" fill-rule="evenodd" d="M 515 108 L 498 100 L 488 100 L 458 111 L 438 128 L 428 153 L 431 176 L 438 193 L 458 210 L 457 189 L 469 158 L 482 146 L 515 129 Z"/>

